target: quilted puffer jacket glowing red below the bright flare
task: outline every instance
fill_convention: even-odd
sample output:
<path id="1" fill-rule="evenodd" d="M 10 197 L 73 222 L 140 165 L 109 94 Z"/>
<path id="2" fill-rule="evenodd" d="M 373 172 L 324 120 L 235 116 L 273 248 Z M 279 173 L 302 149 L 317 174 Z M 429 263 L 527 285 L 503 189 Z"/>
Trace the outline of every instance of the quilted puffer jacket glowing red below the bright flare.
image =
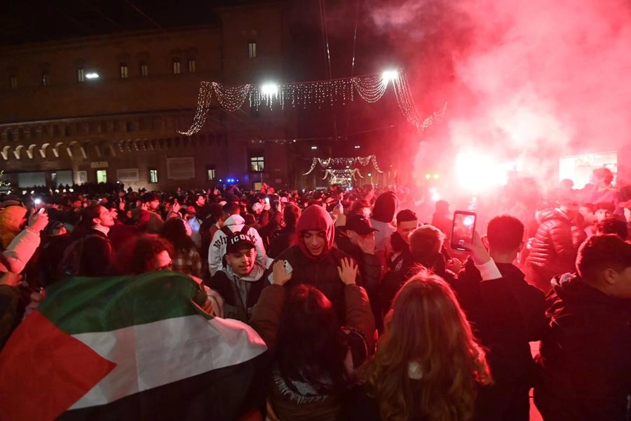
<path id="1" fill-rule="evenodd" d="M 576 244 L 567 215 L 557 209 L 544 210 L 527 262 L 557 274 L 574 272 Z"/>

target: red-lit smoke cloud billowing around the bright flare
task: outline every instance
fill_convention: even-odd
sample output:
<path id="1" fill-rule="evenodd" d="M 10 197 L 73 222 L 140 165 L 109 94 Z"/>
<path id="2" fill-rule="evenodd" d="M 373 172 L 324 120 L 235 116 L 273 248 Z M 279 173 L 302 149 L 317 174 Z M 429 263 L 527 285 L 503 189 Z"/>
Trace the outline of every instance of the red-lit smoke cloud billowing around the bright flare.
<path id="1" fill-rule="evenodd" d="M 559 156 L 630 143 L 628 1 L 410 0 L 373 6 L 374 27 L 405 50 L 419 108 L 449 102 L 445 138 L 455 149 L 442 166 L 454 163 L 458 152 L 473 151 L 513 162 L 550 185 Z M 416 168 L 437 159 L 444 142 L 430 135 Z"/>

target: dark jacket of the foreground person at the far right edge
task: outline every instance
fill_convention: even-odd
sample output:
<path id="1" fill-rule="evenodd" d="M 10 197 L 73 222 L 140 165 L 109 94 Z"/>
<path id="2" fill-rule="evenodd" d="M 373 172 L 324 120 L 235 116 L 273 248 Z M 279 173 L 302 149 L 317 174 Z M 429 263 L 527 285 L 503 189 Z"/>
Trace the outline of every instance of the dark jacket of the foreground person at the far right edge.
<path id="1" fill-rule="evenodd" d="M 578 276 L 552 280 L 535 404 L 545 420 L 631 419 L 631 300 Z"/>

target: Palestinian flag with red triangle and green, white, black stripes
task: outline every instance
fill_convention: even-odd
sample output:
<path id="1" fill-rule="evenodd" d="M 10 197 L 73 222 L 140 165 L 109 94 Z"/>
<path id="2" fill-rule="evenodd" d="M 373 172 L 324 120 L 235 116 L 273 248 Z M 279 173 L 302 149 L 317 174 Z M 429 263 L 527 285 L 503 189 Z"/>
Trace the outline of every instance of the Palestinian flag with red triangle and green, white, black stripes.
<path id="1" fill-rule="evenodd" d="M 266 346 L 204 297 L 175 272 L 51 286 L 0 354 L 0 420 L 235 419 Z"/>

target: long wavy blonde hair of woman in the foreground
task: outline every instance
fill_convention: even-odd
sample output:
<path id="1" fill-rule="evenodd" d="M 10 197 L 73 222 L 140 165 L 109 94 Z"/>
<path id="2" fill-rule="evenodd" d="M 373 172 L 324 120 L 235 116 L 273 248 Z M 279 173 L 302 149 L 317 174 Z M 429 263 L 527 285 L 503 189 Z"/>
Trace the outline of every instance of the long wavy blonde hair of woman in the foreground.
<path id="1" fill-rule="evenodd" d="M 374 358 L 359 371 L 381 418 L 469 419 L 476 384 L 492 380 L 484 351 L 447 283 L 427 270 L 414 275 L 395 296 L 385 323 Z"/>

